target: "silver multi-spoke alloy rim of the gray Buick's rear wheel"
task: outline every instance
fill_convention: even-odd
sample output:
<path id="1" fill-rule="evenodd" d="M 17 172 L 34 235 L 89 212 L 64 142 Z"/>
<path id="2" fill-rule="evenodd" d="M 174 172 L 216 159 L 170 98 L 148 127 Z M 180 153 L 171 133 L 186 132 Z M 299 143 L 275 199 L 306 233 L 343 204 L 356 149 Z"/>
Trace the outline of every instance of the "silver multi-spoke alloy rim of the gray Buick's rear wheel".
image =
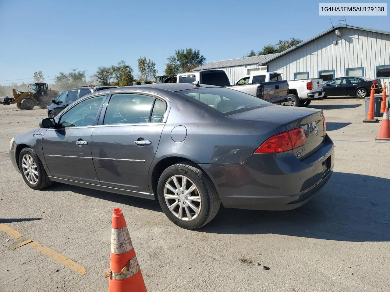
<path id="1" fill-rule="evenodd" d="M 197 218 L 202 208 L 197 186 L 183 175 L 171 176 L 167 180 L 164 186 L 164 199 L 171 213 L 183 221 Z"/>

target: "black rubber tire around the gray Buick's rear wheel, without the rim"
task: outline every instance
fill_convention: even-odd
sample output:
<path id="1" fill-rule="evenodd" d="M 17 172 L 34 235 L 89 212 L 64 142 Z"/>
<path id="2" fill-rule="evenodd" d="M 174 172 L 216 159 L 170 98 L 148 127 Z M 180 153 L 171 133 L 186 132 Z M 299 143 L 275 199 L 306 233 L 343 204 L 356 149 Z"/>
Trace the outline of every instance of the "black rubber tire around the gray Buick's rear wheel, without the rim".
<path id="1" fill-rule="evenodd" d="M 165 184 L 175 175 L 185 176 L 187 179 L 190 179 L 190 181 L 192 181 L 193 184 L 197 187 L 197 194 L 199 194 L 201 200 L 201 208 L 199 214 L 192 220 L 182 220 L 175 216 L 168 208 L 168 205 L 164 199 Z M 198 229 L 213 220 L 213 218 L 217 215 L 221 205 L 220 197 L 215 189 L 213 182 L 209 179 L 207 174 L 199 168 L 198 165 L 191 162 L 181 162 L 174 164 L 163 171 L 160 179 L 158 180 L 157 197 L 158 201 L 160 202 L 160 206 L 168 219 L 179 227 L 190 230 Z M 177 198 L 179 199 L 179 196 Z M 175 201 L 175 199 L 172 199 L 171 201 Z M 176 202 L 177 201 L 178 200 L 176 200 Z M 185 204 L 185 202 L 187 202 L 187 207 L 190 209 L 188 206 L 189 201 L 183 198 L 183 204 Z M 179 208 L 179 206 L 177 206 L 177 208 Z M 185 213 L 186 211 L 183 206 L 183 214 Z"/>

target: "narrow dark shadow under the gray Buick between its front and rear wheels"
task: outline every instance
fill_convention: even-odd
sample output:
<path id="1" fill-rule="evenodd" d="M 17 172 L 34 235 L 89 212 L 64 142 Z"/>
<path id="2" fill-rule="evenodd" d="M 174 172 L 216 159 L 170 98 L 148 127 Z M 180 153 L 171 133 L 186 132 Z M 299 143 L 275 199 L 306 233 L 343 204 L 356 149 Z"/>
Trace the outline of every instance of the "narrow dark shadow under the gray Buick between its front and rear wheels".
<path id="1" fill-rule="evenodd" d="M 148 209 L 151 211 L 162 212 L 158 201 L 143 199 L 138 197 L 132 197 L 127 195 L 120 195 L 116 193 L 103 192 L 98 190 L 92 190 L 89 188 L 82 188 L 80 186 L 66 185 L 62 183 L 55 183 L 53 186 L 41 191 L 48 192 L 73 192 L 80 195 L 94 197 L 101 200 L 107 200 L 118 204 L 124 204 L 142 209 Z"/>

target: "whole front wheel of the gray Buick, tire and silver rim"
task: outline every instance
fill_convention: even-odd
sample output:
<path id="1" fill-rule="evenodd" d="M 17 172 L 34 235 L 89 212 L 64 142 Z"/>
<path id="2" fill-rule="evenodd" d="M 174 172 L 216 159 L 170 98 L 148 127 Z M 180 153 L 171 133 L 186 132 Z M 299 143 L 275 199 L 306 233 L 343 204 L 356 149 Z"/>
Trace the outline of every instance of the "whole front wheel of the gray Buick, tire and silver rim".
<path id="1" fill-rule="evenodd" d="M 19 155 L 19 167 L 25 183 L 34 190 L 52 185 L 41 160 L 34 150 L 24 148 Z"/>

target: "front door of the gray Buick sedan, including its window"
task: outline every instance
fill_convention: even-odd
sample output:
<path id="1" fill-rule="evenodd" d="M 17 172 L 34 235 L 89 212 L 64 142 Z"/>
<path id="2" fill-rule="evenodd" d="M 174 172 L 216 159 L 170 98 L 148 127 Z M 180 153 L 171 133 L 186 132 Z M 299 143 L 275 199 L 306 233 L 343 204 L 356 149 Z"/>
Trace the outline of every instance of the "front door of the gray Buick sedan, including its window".
<path id="1" fill-rule="evenodd" d="M 70 106 L 42 137 L 44 159 L 51 176 L 99 184 L 91 154 L 91 135 L 97 113 L 106 95 L 98 95 Z"/>

